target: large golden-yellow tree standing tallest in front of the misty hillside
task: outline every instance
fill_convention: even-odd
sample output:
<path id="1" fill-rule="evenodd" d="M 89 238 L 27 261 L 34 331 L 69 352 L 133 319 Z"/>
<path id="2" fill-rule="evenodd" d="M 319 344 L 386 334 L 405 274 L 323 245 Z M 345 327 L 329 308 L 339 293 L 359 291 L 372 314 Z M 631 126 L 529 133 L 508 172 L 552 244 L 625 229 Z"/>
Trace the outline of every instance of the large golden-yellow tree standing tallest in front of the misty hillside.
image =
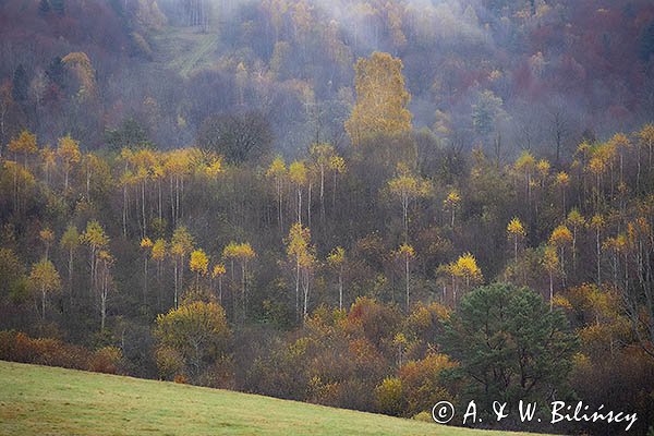
<path id="1" fill-rule="evenodd" d="M 356 104 L 346 121 L 354 145 L 376 135 L 395 135 L 411 130 L 411 96 L 404 87 L 402 61 L 375 51 L 354 65 Z"/>

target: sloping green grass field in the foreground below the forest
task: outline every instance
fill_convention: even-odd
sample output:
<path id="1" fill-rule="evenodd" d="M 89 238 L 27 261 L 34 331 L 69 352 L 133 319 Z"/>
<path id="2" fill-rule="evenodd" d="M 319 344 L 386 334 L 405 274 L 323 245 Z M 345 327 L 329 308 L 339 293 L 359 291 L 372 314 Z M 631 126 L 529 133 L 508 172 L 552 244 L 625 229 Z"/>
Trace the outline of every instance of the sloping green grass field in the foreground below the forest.
<path id="1" fill-rule="evenodd" d="M 0 434 L 492 436 L 507 433 L 0 361 Z"/>

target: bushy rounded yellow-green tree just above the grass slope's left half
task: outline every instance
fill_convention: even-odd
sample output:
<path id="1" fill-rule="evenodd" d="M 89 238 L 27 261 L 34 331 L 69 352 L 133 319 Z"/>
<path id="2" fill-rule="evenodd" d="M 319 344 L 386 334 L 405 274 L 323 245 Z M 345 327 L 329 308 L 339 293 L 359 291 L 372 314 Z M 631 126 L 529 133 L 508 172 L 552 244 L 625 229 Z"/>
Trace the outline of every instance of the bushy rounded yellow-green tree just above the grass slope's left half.
<path id="1" fill-rule="evenodd" d="M 159 349 L 175 350 L 185 375 L 196 380 L 202 372 L 227 353 L 231 331 L 219 304 L 195 301 L 157 316 Z"/>

